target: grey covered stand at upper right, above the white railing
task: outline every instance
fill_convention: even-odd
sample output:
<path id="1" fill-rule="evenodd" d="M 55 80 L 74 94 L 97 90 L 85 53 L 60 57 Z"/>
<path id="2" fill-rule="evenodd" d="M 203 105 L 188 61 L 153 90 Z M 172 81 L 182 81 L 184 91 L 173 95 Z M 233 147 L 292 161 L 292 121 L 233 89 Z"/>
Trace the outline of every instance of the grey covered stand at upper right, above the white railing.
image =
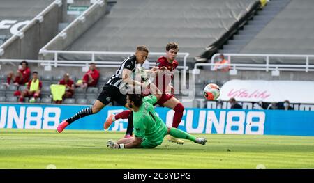
<path id="1" fill-rule="evenodd" d="M 314 1 L 311 0 L 273 0 L 244 26 L 239 35 L 234 35 L 230 42 L 244 42 L 242 45 L 226 45 L 220 52 L 239 54 L 297 54 L 312 55 L 314 52 L 313 13 Z M 268 8 L 268 9 L 267 9 Z M 270 10 L 269 10 L 270 9 Z M 264 12 L 264 10 L 266 10 Z M 264 20 L 263 20 L 264 19 Z M 265 26 L 258 24 L 264 21 Z M 248 27 L 248 29 L 247 29 Z M 243 35 L 255 29 L 253 37 Z M 257 30 L 260 29 L 260 30 Z M 242 33 L 241 33 L 242 32 Z M 240 37 L 239 37 L 240 36 Z M 239 43 L 239 42 L 238 42 Z M 233 44 L 233 43 L 232 43 Z M 239 43 L 240 44 L 240 43 Z M 232 49 L 232 47 L 238 47 Z M 226 48 L 226 49 L 225 49 Z M 238 56 L 232 63 L 265 63 L 264 58 L 255 56 Z M 271 58 L 269 63 L 296 65 L 306 63 L 305 58 Z M 314 64 L 314 58 L 309 58 L 309 64 Z"/>

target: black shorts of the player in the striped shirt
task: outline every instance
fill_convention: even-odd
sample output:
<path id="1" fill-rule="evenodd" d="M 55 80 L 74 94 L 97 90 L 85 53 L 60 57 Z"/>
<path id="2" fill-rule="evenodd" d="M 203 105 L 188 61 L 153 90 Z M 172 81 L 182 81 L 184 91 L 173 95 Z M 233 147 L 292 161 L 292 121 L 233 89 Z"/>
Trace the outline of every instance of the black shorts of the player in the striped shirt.
<path id="1" fill-rule="evenodd" d="M 118 102 L 121 106 L 126 105 L 126 95 L 120 93 L 119 88 L 106 84 L 103 91 L 98 95 L 97 100 L 107 105 L 112 101 Z"/>

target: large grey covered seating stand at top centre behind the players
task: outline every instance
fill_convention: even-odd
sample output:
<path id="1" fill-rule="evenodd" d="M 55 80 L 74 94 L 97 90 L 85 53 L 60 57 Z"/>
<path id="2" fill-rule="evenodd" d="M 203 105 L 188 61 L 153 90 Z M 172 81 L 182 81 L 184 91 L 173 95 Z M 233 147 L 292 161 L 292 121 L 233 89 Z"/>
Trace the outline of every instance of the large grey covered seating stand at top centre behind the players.
<path id="1" fill-rule="evenodd" d="M 202 60 L 213 54 L 259 7 L 257 0 L 121 0 L 67 50 L 134 51 L 135 45 L 144 44 L 150 51 L 164 52 L 167 42 L 174 41 L 179 42 L 180 52 L 190 53 L 189 61 L 194 63 L 195 56 L 202 55 L 197 57 Z"/>

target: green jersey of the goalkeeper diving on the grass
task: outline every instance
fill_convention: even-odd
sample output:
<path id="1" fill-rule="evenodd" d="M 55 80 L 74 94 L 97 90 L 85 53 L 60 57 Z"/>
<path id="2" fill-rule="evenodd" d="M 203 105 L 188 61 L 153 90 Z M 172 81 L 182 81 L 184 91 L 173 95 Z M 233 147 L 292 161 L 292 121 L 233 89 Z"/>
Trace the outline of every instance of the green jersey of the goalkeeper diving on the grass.
<path id="1" fill-rule="evenodd" d="M 159 118 L 154 109 L 157 102 L 155 95 L 143 98 L 139 111 L 133 113 L 134 134 L 138 138 L 144 138 L 151 144 L 161 144 L 167 134 L 167 126 Z"/>

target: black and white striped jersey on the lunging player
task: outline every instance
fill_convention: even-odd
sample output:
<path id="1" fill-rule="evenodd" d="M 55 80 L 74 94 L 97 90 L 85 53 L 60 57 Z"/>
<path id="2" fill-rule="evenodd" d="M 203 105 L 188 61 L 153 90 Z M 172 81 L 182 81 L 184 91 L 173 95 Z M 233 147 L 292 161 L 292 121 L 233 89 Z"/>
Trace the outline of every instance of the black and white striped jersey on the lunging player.
<path id="1" fill-rule="evenodd" d="M 136 69 L 136 57 L 135 55 L 133 56 L 128 56 L 124 61 L 121 63 L 119 69 L 117 70 L 116 74 L 112 75 L 110 79 L 107 81 L 107 85 L 115 86 L 117 88 L 121 88 L 121 83 L 122 82 L 122 70 L 128 69 L 131 70 L 133 73 L 135 72 Z M 125 84 L 125 83 L 124 83 Z"/>

